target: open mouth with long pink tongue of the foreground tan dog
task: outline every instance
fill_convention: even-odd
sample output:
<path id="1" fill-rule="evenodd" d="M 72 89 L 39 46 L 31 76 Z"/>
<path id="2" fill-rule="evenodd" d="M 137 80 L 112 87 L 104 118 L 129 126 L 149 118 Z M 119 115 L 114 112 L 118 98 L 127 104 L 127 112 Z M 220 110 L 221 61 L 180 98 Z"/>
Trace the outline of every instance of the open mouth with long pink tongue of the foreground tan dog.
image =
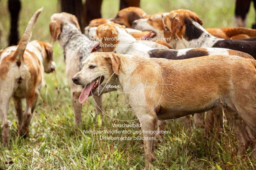
<path id="1" fill-rule="evenodd" d="M 79 103 L 84 103 L 84 101 L 94 93 L 94 91 L 97 89 L 97 87 L 100 86 L 100 84 L 103 82 L 104 76 L 99 76 L 95 80 L 93 80 L 88 85 L 84 86 L 83 91 L 80 94 L 79 97 Z"/>

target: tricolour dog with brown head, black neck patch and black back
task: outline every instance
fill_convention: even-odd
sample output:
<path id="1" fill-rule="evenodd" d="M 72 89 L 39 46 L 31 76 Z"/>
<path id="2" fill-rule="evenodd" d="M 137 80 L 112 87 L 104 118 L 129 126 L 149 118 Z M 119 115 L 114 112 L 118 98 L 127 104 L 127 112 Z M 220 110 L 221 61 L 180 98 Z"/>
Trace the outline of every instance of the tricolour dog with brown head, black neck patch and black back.
<path id="1" fill-rule="evenodd" d="M 180 9 L 171 11 L 163 17 L 164 28 L 170 32 L 170 39 L 178 38 L 186 48 L 228 48 L 248 53 L 256 58 L 256 41 L 214 37 L 202 27 L 203 22 L 195 12 Z"/>

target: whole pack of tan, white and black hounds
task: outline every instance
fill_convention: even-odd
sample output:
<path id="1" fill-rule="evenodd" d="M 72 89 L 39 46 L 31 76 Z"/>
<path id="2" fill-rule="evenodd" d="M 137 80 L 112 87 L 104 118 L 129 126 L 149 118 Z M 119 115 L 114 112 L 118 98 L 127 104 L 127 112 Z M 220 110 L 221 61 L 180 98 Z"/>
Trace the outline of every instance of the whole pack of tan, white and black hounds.
<path id="1" fill-rule="evenodd" d="M 32 16 L 17 46 L 0 51 L 4 146 L 10 140 L 10 99 L 17 112 L 18 133 L 25 137 L 44 72 L 55 70 L 52 45 L 29 42 L 41 11 Z M 148 15 L 138 7 L 129 7 L 115 18 L 92 20 L 83 34 L 74 15 L 53 14 L 49 23 L 51 42 L 58 41 L 63 49 L 74 124 L 81 125 L 82 104 L 90 96 L 95 100 L 96 114 L 101 114 L 101 94 L 125 89 L 141 130 L 164 130 L 166 120 L 176 118 L 182 118 L 189 129 L 193 115 L 194 126 L 205 128 L 207 137 L 221 131 L 225 114 L 235 130 L 238 154 L 243 155 L 250 146 L 255 157 L 256 30 L 202 25 L 203 21 L 189 10 Z M 154 90 L 141 88 L 146 84 L 155 85 Z M 106 85 L 121 88 L 107 89 Z M 22 99 L 27 104 L 24 113 Z M 143 137 L 148 168 L 156 160 L 155 140 L 150 133 L 143 133 Z"/>

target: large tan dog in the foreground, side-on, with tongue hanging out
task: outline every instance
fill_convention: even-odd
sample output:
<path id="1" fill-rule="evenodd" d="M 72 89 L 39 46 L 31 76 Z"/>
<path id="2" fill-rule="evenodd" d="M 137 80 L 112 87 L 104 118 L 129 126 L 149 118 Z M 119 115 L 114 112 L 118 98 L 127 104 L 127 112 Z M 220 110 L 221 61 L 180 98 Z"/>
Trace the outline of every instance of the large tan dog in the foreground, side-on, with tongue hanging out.
<path id="1" fill-rule="evenodd" d="M 167 60 L 95 52 L 86 58 L 83 69 L 73 80 L 85 86 L 82 94 L 85 96 L 106 84 L 113 74 L 121 86 L 118 90 L 125 93 L 140 120 L 146 168 L 156 159 L 154 127 L 157 120 L 175 119 L 221 106 L 226 109 L 228 120 L 239 115 L 256 137 L 256 61 L 253 59 L 211 55 Z M 241 126 L 236 121 L 234 125 Z"/>

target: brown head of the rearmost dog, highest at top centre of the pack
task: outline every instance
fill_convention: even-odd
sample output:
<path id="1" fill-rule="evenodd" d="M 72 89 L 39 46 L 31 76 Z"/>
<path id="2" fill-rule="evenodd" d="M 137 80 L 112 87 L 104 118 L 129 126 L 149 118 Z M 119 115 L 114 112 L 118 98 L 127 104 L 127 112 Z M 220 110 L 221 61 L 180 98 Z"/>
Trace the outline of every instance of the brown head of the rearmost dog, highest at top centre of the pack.
<path id="1" fill-rule="evenodd" d="M 148 18 L 148 15 L 139 7 L 128 7 L 120 10 L 113 22 L 131 28 L 133 21 L 140 18 Z"/>

